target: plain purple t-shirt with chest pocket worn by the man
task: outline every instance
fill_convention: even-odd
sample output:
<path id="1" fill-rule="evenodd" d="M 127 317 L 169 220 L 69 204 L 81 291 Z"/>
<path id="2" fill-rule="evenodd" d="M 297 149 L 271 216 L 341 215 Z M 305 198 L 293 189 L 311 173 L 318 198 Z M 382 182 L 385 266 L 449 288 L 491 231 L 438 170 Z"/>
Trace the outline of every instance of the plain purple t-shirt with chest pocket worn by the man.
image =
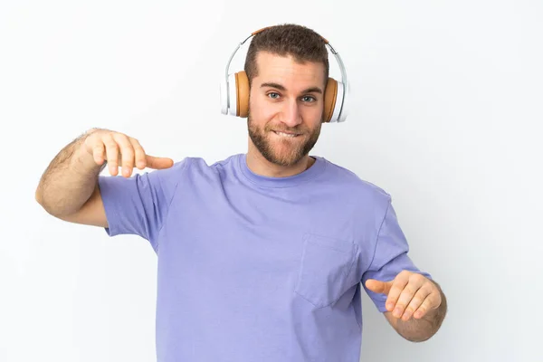
<path id="1" fill-rule="evenodd" d="M 100 176 L 111 236 L 157 253 L 158 362 L 358 362 L 368 278 L 419 271 L 391 197 L 324 157 L 296 176 L 244 154 Z M 361 284 L 362 282 L 362 284 Z"/>

